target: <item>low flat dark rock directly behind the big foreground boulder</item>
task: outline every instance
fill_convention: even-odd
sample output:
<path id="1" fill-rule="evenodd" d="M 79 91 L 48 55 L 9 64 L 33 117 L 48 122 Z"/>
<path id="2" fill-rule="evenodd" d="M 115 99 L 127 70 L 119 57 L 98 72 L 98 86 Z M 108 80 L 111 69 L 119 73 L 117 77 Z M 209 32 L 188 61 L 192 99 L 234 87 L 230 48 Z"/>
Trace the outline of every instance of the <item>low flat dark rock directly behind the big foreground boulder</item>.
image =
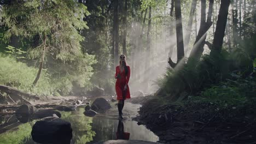
<path id="1" fill-rule="evenodd" d="M 59 118 L 61 117 L 61 113 L 59 111 L 55 111 L 53 109 L 43 109 L 34 113 L 33 118 L 39 119 L 44 117 L 53 117 L 54 114 L 57 115 Z"/>

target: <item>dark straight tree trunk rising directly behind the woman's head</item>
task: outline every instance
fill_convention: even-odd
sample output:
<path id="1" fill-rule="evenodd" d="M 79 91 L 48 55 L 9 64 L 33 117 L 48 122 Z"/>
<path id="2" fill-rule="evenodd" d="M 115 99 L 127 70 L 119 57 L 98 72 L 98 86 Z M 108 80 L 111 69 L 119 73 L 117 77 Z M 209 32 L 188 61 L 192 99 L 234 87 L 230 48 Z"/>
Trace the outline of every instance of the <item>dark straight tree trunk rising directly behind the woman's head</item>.
<path id="1" fill-rule="evenodd" d="M 113 1 L 114 6 L 114 21 L 113 21 L 113 29 L 114 29 L 114 64 L 119 65 L 119 23 L 118 23 L 118 0 Z M 114 67 L 115 69 L 115 67 Z"/>

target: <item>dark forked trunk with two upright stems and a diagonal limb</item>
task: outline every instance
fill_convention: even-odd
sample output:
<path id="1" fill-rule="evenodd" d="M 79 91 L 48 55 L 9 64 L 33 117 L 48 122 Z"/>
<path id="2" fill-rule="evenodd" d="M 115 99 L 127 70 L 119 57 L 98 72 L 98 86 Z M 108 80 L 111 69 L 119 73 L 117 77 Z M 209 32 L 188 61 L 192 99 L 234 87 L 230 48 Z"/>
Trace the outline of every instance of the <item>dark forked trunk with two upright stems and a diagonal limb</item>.
<path id="1" fill-rule="evenodd" d="M 206 0 L 201 0 L 200 28 L 199 28 L 199 32 L 197 34 L 193 49 L 190 52 L 189 59 L 192 58 L 195 61 L 199 61 L 202 56 L 203 46 L 205 45 L 207 31 L 212 26 L 212 21 L 211 21 L 212 8 L 213 8 L 213 0 L 210 0 L 210 4 L 208 8 L 208 16 L 206 21 Z"/>

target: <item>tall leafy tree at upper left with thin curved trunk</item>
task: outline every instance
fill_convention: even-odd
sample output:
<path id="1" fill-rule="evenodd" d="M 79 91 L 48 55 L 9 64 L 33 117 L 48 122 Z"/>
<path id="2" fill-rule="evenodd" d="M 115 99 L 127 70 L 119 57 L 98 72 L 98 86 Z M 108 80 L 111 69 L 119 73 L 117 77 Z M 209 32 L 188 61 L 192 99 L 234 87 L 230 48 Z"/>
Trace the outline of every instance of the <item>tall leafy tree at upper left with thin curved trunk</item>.
<path id="1" fill-rule="evenodd" d="M 80 19 L 88 11 L 83 4 L 71 0 L 11 3 L 3 7 L 3 20 L 9 27 L 6 38 L 11 35 L 20 35 L 27 39 L 39 38 L 37 45 L 28 51 L 28 57 L 40 61 L 32 85 L 36 86 L 45 56 L 53 56 L 65 62 L 74 59 L 74 55 L 80 55 L 80 41 L 83 37 L 77 29 L 87 28 L 86 22 Z"/>

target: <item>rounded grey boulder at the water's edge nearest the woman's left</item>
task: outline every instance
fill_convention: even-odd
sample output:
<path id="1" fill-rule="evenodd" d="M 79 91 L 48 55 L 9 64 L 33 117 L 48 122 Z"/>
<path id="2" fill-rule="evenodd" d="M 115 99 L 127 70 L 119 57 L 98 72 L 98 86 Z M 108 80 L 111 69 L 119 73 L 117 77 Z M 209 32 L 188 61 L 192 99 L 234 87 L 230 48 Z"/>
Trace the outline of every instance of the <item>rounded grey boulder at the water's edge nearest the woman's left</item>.
<path id="1" fill-rule="evenodd" d="M 104 98 L 97 98 L 94 101 L 94 103 L 91 104 L 91 109 L 96 112 L 104 112 L 110 108 L 111 108 L 110 104 Z"/>

